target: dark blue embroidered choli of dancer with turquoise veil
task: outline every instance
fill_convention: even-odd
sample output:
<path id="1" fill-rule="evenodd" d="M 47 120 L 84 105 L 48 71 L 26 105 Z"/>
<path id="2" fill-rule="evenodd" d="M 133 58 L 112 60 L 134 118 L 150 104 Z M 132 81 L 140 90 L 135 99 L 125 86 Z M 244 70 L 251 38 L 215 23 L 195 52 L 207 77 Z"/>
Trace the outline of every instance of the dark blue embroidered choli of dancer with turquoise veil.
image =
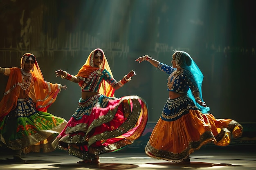
<path id="1" fill-rule="evenodd" d="M 171 66 L 159 63 L 159 70 L 170 74 L 167 79 L 167 90 L 177 93 L 187 93 L 189 88 L 192 93 L 199 91 L 192 73 L 188 70 L 177 70 Z"/>

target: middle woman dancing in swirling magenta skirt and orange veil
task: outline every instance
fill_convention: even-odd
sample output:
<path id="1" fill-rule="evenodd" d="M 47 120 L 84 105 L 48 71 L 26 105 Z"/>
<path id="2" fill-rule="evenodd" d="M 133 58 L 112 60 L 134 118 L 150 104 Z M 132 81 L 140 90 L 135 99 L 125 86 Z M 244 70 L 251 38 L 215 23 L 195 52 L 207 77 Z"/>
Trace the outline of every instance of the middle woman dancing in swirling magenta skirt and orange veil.
<path id="1" fill-rule="evenodd" d="M 56 71 L 56 76 L 81 86 L 79 106 L 54 146 L 83 159 L 99 163 L 99 155 L 124 148 L 138 139 L 148 120 L 148 108 L 139 96 L 116 98 L 115 90 L 135 75 L 131 71 L 117 82 L 102 49 L 94 49 L 76 76 Z"/>

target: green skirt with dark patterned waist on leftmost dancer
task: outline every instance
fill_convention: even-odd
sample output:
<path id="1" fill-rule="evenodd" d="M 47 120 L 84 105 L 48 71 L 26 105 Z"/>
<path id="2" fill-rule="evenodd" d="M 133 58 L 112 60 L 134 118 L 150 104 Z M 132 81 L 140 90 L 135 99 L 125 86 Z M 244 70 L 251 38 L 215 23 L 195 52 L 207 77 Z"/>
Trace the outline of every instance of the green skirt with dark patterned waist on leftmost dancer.
<path id="1" fill-rule="evenodd" d="M 18 99 L 15 110 L 0 120 L 0 146 L 29 152 L 52 152 L 52 141 L 67 121 L 50 113 L 35 110 L 32 99 Z"/>

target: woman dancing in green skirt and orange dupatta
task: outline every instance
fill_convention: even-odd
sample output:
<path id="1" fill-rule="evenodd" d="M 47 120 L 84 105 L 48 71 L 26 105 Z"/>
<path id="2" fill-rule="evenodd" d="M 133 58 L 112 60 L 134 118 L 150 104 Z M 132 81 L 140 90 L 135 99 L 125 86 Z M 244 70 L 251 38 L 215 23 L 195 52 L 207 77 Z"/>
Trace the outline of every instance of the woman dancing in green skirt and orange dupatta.
<path id="1" fill-rule="evenodd" d="M 46 82 L 31 53 L 25 53 L 20 67 L 1 68 L 9 76 L 4 97 L 0 102 L 0 146 L 14 150 L 14 161 L 21 153 L 51 152 L 51 142 L 63 130 L 67 121 L 47 113 L 61 88 L 66 86 Z"/>

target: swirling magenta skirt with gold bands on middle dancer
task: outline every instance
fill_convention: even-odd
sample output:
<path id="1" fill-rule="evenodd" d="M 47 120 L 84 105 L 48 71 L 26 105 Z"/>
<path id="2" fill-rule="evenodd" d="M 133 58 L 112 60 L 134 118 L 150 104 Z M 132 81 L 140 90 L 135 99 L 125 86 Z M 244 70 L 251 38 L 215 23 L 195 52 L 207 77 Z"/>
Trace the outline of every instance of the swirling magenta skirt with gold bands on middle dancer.
<path id="1" fill-rule="evenodd" d="M 114 152 L 141 137 L 148 121 L 148 108 L 138 96 L 121 98 L 95 95 L 79 106 L 54 141 L 69 155 L 92 159 Z"/>

